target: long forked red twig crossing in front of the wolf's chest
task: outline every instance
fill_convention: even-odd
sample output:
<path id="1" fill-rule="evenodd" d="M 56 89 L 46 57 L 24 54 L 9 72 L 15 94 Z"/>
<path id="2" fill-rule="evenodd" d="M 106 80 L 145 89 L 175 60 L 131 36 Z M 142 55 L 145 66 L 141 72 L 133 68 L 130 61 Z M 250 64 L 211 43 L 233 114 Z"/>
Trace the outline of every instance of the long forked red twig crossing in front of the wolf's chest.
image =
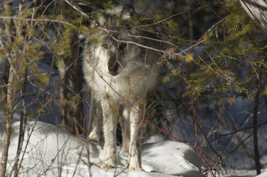
<path id="1" fill-rule="evenodd" d="M 161 132 L 163 132 L 163 134 L 165 134 L 165 135 L 167 135 L 167 136 L 169 136 L 169 137 L 171 137 L 171 138 L 173 138 L 173 139 L 175 139 L 175 140 L 177 140 L 177 141 L 179 141 L 179 142 L 181 142 L 181 143 L 184 143 L 184 144 L 186 144 L 186 145 L 188 145 L 188 146 L 190 146 L 190 147 L 192 147 L 192 148 L 194 148 L 196 151 L 197 151 L 197 153 L 198 153 L 198 155 L 200 156 L 200 158 L 201 158 L 201 160 L 204 162 L 204 164 L 207 166 L 207 168 L 210 170 L 210 172 L 211 172 L 211 174 L 212 174 L 212 176 L 213 177 L 215 177 L 215 175 L 214 175 L 214 173 L 213 173 L 213 171 L 211 170 L 211 168 L 209 167 L 209 165 L 207 164 L 207 162 L 204 160 L 204 158 L 203 158 L 203 156 L 201 155 L 201 153 L 199 152 L 199 150 L 198 150 L 198 148 L 197 148 L 197 118 L 196 118 L 196 113 L 195 113 L 195 110 L 194 110 L 194 105 L 193 105 L 193 99 L 192 99 L 192 96 L 191 96 L 191 93 L 190 93 L 190 90 L 189 90 L 189 83 L 187 82 L 187 80 L 186 80 L 186 76 L 185 76 L 185 73 L 184 73 L 184 71 L 183 71 L 183 69 L 182 69 L 182 65 L 181 65 L 181 62 L 180 62 L 180 60 L 178 59 L 178 61 L 179 61 L 179 64 L 180 64 L 180 67 L 181 67 L 181 70 L 182 70 L 182 73 L 183 73 L 183 76 L 184 76 L 184 80 L 185 80 L 185 82 L 186 82 L 186 86 L 187 86 L 187 91 L 188 91 L 188 94 L 189 94 L 189 98 L 190 98 L 190 104 L 191 104 L 191 106 L 192 106 L 192 110 L 193 110 L 193 116 L 194 116 L 194 120 L 195 120 L 195 133 L 196 133 L 196 140 L 195 140 L 195 145 L 193 146 L 193 145 L 190 145 L 189 143 L 186 143 L 186 142 L 184 142 L 184 141 L 182 141 L 182 140 L 180 140 L 180 139 L 178 139 L 178 138 L 176 138 L 176 137 L 174 137 L 173 135 L 171 135 L 171 134 L 169 134 L 168 132 L 166 132 L 166 131 L 164 131 L 162 128 L 160 128 L 158 125 L 156 125 L 154 122 L 152 122 L 152 121 L 150 121 L 149 119 L 147 119 L 144 115 L 143 115 L 143 113 L 142 112 L 140 112 L 131 102 L 129 102 L 126 98 L 124 98 L 122 95 L 120 95 L 117 91 L 115 91 L 113 88 L 112 88 L 112 86 L 103 78 L 103 76 L 91 65 L 91 63 L 87 60 L 87 59 L 85 59 L 86 61 L 87 61 L 87 63 L 94 69 L 94 71 L 99 75 L 99 77 L 101 78 L 101 79 L 103 79 L 104 80 L 104 82 L 110 87 L 110 89 L 113 91 L 113 92 L 115 92 L 117 95 L 119 95 L 122 99 L 124 99 L 128 104 L 130 104 L 130 106 L 132 107 L 132 108 L 134 108 L 136 111 L 137 111 L 137 113 L 139 114 L 139 115 L 141 115 L 147 122 L 149 122 L 150 124 L 152 124 L 153 126 L 155 126 L 158 130 L 160 130 Z"/>

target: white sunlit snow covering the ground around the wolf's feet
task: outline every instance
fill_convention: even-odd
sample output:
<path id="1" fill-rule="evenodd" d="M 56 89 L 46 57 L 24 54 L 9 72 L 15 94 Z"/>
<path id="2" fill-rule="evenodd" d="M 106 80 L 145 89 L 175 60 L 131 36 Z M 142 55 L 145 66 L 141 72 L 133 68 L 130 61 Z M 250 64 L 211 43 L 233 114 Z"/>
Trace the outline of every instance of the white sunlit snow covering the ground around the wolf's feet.
<path id="1" fill-rule="evenodd" d="M 8 171 L 12 169 L 17 151 L 19 122 L 13 124 L 13 129 Z M 2 139 L 3 131 L 0 137 Z M 152 137 L 149 141 L 153 142 L 154 139 L 161 140 Z M 142 146 L 141 159 L 145 171 L 128 170 L 127 154 L 120 153 L 119 147 L 117 168 L 101 169 L 94 165 L 101 162 L 101 147 L 44 122 L 36 122 L 35 125 L 34 121 L 28 122 L 22 149 L 19 176 L 203 176 L 200 172 L 201 161 L 195 150 L 172 141 Z M 267 176 L 267 172 L 258 176 Z"/>

